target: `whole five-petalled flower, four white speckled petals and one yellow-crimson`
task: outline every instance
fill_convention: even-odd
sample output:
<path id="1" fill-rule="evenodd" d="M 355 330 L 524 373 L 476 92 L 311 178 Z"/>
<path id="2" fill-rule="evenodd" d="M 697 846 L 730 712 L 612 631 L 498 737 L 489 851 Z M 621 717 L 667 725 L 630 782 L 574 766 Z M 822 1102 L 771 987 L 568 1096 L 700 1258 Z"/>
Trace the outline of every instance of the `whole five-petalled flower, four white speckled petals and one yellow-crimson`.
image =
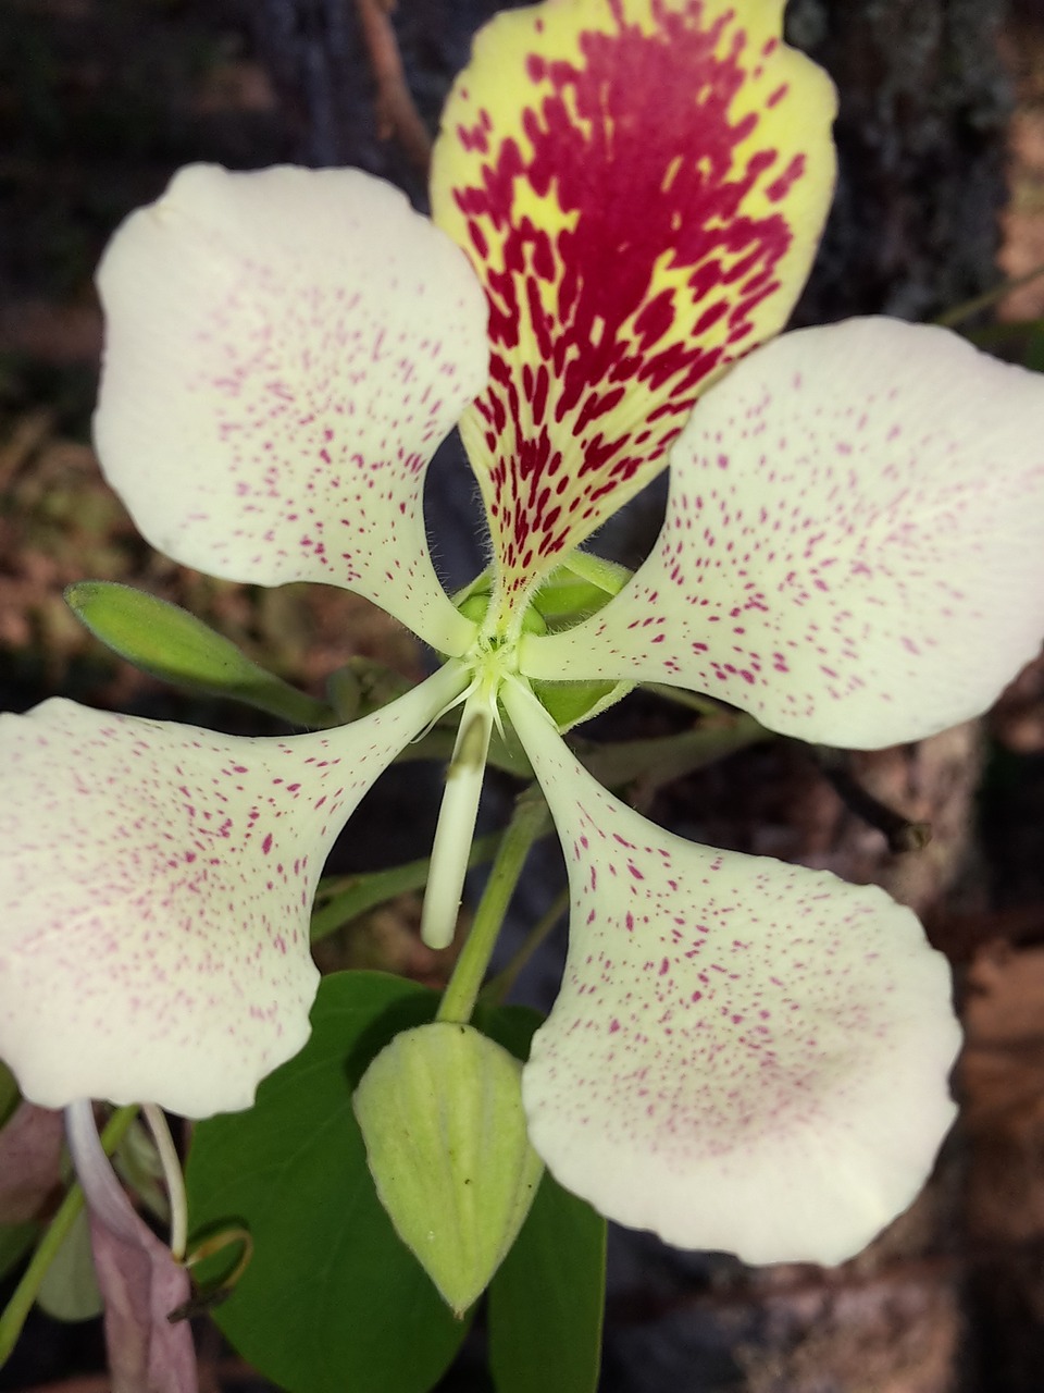
<path id="1" fill-rule="evenodd" d="M 834 174 L 832 89 L 781 45 L 781 8 L 498 17 L 444 114 L 438 227 L 355 171 L 195 167 L 117 233 L 96 439 L 145 536 L 231 579 L 354 589 L 445 663 L 287 740 L 68 702 L 4 717 L 0 1052 L 28 1096 L 246 1106 L 308 1032 L 333 837 L 461 703 L 426 933 L 448 933 L 503 712 L 572 896 L 523 1071 L 551 1172 L 753 1262 L 838 1261 L 913 1198 L 958 1042 L 915 917 L 654 827 L 533 685 L 674 683 L 873 748 L 983 710 L 1044 631 L 1037 379 L 885 320 L 757 347 Z M 491 538 L 477 617 L 438 584 L 422 513 L 458 419 Z M 649 560 L 544 632 L 540 582 L 668 456 Z"/>

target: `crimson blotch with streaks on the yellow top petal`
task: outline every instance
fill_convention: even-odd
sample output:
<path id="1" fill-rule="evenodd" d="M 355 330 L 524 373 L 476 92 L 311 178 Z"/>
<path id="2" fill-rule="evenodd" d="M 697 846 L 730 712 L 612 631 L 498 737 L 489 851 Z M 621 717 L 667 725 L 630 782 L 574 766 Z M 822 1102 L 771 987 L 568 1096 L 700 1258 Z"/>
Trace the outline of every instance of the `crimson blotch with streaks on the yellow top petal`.
<path id="1" fill-rule="evenodd" d="M 599 500 L 663 456 L 707 376 L 754 345 L 752 315 L 780 288 L 792 228 L 782 210 L 743 205 L 756 187 L 780 202 L 805 160 L 780 170 L 775 148 L 741 155 L 759 117 L 729 118 L 778 40 L 752 54 L 736 29 L 722 45 L 734 14 L 703 28 L 703 8 L 654 0 L 649 33 L 610 0 L 617 29 L 582 33 L 582 63 L 529 53 L 528 77 L 547 91 L 522 116 L 530 153 L 512 137 L 497 143 L 484 109 L 457 127 L 466 149 L 491 155 L 480 182 L 454 198 L 490 304 L 491 382 L 476 405 L 509 588 L 586 535 Z M 532 194 L 555 199 L 574 226 L 535 226 L 522 210 Z M 702 337 L 722 320 L 724 333 Z M 629 391 L 638 410 L 621 415 Z"/>

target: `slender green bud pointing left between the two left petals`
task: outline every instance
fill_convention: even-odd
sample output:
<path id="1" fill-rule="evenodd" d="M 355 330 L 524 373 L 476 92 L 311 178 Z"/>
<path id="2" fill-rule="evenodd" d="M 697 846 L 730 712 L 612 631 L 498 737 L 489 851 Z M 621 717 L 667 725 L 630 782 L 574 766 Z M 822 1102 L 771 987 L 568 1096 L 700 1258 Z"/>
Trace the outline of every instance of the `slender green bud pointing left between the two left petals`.
<path id="1" fill-rule="evenodd" d="M 323 702 L 266 673 L 193 614 L 132 585 L 79 581 L 67 586 L 65 603 L 95 638 L 152 677 L 245 702 L 294 726 L 337 720 Z"/>

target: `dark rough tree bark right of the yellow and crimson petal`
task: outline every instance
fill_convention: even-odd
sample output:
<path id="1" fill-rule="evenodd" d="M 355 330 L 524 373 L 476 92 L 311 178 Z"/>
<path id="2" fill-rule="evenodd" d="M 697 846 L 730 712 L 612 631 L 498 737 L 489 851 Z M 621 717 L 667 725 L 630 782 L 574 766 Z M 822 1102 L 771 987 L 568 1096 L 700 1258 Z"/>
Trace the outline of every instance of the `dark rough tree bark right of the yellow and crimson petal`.
<path id="1" fill-rule="evenodd" d="M 1004 0 L 792 0 L 834 78 L 839 180 L 803 322 L 928 319 L 997 279 L 1012 85 Z"/>

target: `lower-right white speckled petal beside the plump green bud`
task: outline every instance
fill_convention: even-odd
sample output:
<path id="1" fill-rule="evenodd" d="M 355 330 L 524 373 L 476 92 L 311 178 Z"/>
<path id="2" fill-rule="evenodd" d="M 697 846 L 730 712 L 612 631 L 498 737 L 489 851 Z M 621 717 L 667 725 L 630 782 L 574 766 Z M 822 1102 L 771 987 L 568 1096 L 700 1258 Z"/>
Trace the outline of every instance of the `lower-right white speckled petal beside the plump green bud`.
<path id="1" fill-rule="evenodd" d="M 530 1135 L 610 1219 L 748 1262 L 838 1262 L 915 1197 L 954 1117 L 944 958 L 825 872 L 693 846 L 508 709 L 572 890 L 562 990 L 523 1073 Z"/>

